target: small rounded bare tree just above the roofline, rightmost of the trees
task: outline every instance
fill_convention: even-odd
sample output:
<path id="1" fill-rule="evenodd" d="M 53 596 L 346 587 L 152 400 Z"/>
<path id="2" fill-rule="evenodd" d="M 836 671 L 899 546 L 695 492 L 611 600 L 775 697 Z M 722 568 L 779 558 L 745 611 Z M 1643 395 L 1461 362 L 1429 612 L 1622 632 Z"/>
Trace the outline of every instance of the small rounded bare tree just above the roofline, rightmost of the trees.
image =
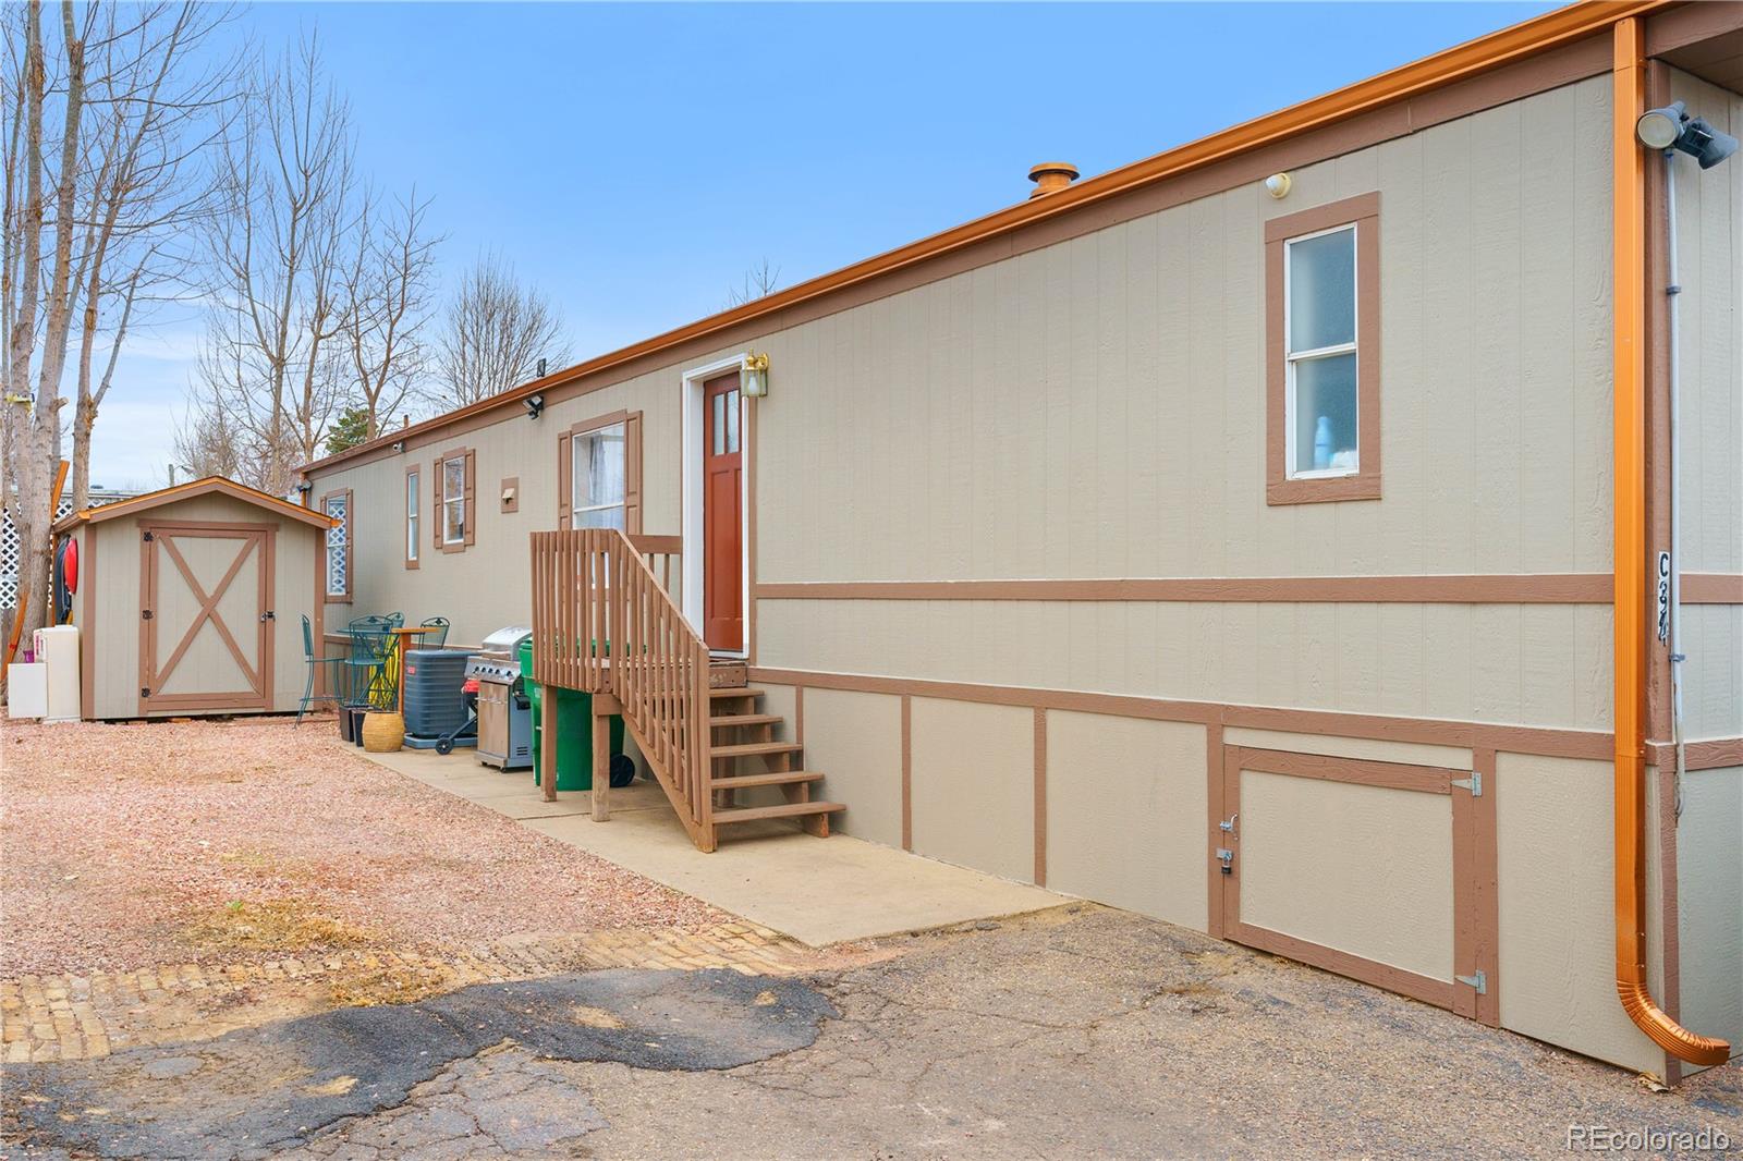
<path id="1" fill-rule="evenodd" d="M 478 403 L 533 378 L 540 359 L 568 361 L 561 317 L 505 260 L 481 256 L 448 303 L 431 401 L 443 408 Z"/>

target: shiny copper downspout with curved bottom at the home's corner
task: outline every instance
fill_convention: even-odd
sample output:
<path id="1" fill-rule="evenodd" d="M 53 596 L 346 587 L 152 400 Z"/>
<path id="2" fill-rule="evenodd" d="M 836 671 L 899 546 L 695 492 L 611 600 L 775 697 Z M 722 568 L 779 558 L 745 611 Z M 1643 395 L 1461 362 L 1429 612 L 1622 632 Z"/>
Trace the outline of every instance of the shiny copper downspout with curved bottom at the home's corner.
<path id="1" fill-rule="evenodd" d="M 1616 497 L 1616 992 L 1654 1044 L 1696 1065 L 1720 1065 L 1726 1041 L 1672 1020 L 1645 976 L 1645 150 L 1635 119 L 1645 112 L 1645 26 L 1616 23 L 1611 70 L 1614 230 Z"/>

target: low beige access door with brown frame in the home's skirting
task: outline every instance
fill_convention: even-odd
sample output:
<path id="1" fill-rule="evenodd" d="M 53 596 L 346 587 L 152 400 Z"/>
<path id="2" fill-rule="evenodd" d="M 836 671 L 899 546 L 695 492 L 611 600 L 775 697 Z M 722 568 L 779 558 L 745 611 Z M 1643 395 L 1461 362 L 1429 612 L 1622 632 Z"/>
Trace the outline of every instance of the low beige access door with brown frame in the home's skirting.
<path id="1" fill-rule="evenodd" d="M 1227 746 L 1224 934 L 1497 1023 L 1489 781 Z"/>

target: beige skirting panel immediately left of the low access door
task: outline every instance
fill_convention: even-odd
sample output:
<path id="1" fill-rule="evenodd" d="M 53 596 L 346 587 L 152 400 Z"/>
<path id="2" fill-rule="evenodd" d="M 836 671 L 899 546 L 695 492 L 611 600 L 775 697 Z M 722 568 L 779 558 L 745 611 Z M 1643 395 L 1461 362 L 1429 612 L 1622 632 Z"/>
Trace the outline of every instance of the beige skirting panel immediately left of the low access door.
<path id="1" fill-rule="evenodd" d="M 1206 931 L 1204 727 L 1048 713 L 1048 887 Z"/>

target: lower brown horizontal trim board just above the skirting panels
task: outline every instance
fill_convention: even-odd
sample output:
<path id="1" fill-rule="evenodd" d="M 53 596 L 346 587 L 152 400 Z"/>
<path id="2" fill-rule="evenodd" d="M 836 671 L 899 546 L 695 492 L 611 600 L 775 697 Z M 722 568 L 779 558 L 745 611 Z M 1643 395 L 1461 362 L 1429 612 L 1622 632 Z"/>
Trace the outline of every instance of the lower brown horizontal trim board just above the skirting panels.
<path id="1" fill-rule="evenodd" d="M 1504 753 L 1532 753 L 1558 758 L 1607 760 L 1614 737 L 1605 730 L 1576 730 L 1541 725 L 1501 725 L 1454 722 L 1450 718 L 1405 718 L 1377 713 L 1340 713 L 1333 710 L 1292 710 L 1278 706 L 1239 706 L 1215 701 L 1175 701 L 1129 694 L 1035 689 L 1027 685 L 976 685 L 969 682 L 931 682 L 924 678 L 873 676 L 861 673 L 819 673 L 814 669 L 749 668 L 749 680 L 776 685 L 805 685 L 859 694 L 898 694 L 906 706 L 912 697 L 941 697 L 994 706 L 1065 710 L 1145 718 L 1152 722 L 1199 722 L 1204 725 L 1239 725 L 1246 729 L 1332 737 L 1373 737 L 1379 741 L 1428 743 L 1462 750 L 1494 748 Z M 903 720 L 908 720 L 906 710 Z M 903 737 L 906 743 L 908 729 Z M 903 746 L 908 755 L 908 746 Z M 903 767 L 908 767 L 905 757 Z M 906 777 L 905 777 L 906 783 Z M 906 800 L 906 795 L 905 795 Z"/>

